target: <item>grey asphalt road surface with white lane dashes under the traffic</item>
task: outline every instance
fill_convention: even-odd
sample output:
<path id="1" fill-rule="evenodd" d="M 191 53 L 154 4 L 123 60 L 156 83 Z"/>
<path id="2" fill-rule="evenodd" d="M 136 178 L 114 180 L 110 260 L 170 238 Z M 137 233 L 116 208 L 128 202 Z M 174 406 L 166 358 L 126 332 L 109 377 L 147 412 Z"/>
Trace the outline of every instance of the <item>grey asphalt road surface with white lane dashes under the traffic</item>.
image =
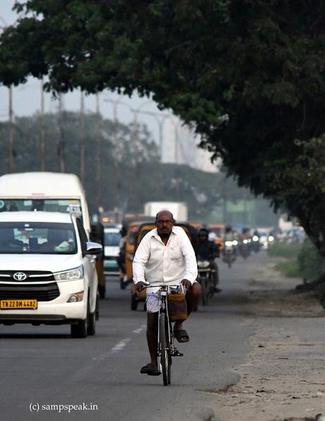
<path id="1" fill-rule="evenodd" d="M 266 260 L 261 252 L 220 264 L 223 291 L 186 322 L 190 342 L 179 344 L 184 357 L 173 359 L 167 387 L 139 372 L 149 361 L 146 313 L 130 310 L 116 277 L 107 277 L 94 337 L 70 338 L 64 325 L 1 325 L 0 419 L 208 420 L 213 391 L 237 381 L 234 367 L 249 351 L 240 291 Z"/>

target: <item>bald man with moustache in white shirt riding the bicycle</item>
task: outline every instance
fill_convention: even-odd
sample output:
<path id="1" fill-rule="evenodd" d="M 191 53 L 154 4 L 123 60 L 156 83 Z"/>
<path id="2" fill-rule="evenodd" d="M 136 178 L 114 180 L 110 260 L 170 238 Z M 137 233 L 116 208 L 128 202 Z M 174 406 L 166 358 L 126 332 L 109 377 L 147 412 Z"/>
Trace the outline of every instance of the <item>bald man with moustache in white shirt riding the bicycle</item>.
<path id="1" fill-rule="evenodd" d="M 182 284 L 187 289 L 187 314 L 196 308 L 201 294 L 201 285 L 196 282 L 196 257 L 187 234 L 180 226 L 174 226 L 172 213 L 158 212 L 156 228 L 143 237 L 133 261 L 134 283 L 140 291 L 144 282 L 147 288 L 147 342 L 151 362 L 141 368 L 142 374 L 160 374 L 157 362 L 158 311 L 160 306 L 158 287 L 155 284 Z M 183 321 L 174 325 L 175 338 L 179 342 L 189 342 L 189 335 L 182 327 Z"/>

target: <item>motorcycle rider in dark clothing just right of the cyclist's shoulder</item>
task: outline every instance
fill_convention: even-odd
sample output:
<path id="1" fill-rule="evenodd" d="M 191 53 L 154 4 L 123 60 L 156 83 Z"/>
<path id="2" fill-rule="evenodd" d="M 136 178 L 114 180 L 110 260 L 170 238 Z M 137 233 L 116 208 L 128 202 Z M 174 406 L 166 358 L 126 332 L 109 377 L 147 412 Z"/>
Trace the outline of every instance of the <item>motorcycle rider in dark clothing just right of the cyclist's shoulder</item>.
<path id="1" fill-rule="evenodd" d="M 220 292 L 221 289 L 217 287 L 219 283 L 219 273 L 218 265 L 215 261 L 215 258 L 220 257 L 220 250 L 218 244 L 214 241 L 209 241 L 208 239 L 208 230 L 206 228 L 201 228 L 198 233 L 198 241 L 194 247 L 196 258 L 199 256 L 204 260 L 210 261 L 210 267 L 213 270 L 212 272 L 212 284 L 213 292 Z"/>

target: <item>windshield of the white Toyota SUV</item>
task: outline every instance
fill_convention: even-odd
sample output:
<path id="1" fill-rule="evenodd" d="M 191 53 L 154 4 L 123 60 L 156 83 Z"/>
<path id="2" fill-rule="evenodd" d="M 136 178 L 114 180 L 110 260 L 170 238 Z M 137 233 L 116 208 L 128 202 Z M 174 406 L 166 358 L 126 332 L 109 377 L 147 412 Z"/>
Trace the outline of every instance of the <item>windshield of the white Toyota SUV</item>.
<path id="1" fill-rule="evenodd" d="M 0 222 L 0 254 L 75 254 L 73 224 Z"/>

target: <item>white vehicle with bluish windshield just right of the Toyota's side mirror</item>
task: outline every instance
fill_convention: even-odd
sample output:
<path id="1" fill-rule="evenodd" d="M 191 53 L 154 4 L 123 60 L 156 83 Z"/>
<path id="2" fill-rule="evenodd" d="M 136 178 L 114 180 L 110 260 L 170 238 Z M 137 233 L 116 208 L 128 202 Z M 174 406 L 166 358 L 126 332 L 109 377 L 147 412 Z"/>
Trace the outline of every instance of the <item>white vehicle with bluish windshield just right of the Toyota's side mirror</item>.
<path id="1" fill-rule="evenodd" d="M 106 275 L 119 274 L 117 256 L 119 255 L 119 242 L 121 241 L 120 231 L 121 229 L 117 227 L 104 229 L 104 269 Z"/>

